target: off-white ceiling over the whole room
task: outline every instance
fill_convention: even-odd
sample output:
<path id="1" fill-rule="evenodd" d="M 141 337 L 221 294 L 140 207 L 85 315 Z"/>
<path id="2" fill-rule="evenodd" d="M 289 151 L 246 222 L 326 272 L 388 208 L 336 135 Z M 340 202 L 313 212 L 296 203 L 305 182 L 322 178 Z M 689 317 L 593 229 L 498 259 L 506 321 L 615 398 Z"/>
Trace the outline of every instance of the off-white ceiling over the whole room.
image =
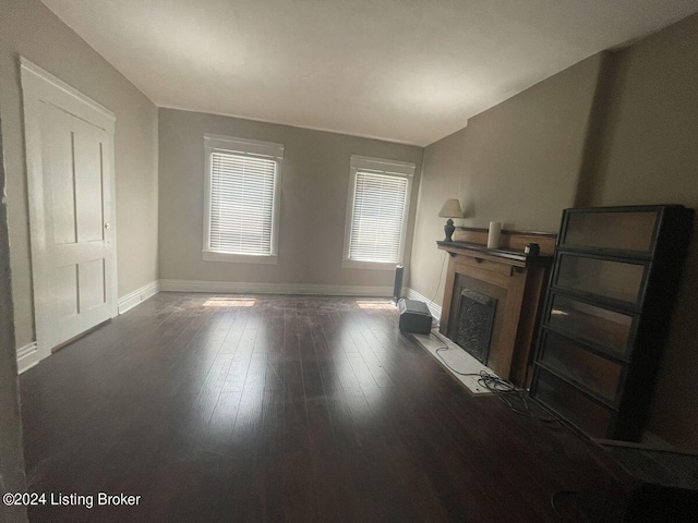
<path id="1" fill-rule="evenodd" d="M 43 0 L 157 106 L 431 144 L 698 0 Z"/>

